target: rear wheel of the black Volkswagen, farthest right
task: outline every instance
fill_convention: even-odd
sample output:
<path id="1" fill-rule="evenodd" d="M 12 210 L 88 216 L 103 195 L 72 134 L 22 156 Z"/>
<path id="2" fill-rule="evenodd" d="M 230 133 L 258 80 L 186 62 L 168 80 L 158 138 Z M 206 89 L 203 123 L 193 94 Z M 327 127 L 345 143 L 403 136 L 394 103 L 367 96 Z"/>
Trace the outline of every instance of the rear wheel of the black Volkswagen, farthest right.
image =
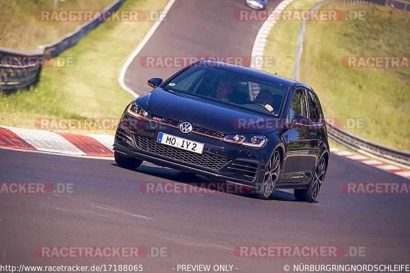
<path id="1" fill-rule="evenodd" d="M 316 200 L 320 187 L 326 174 L 326 161 L 324 157 L 320 158 L 319 163 L 317 164 L 316 171 L 312 177 L 312 181 L 309 184 L 309 188 L 295 188 L 293 195 L 296 200 L 312 203 Z"/>

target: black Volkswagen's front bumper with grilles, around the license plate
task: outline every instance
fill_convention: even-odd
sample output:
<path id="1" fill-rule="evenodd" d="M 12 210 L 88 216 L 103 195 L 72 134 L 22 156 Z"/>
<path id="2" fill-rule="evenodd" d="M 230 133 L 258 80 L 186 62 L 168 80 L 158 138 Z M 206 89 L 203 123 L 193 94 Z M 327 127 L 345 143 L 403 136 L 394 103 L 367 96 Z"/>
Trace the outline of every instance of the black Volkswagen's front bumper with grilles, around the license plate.
<path id="1" fill-rule="evenodd" d="M 133 124 L 129 126 L 129 124 Z M 158 133 L 204 143 L 202 154 L 156 142 Z M 182 134 L 161 123 L 123 116 L 118 125 L 114 151 L 183 172 L 200 174 L 216 181 L 257 187 L 263 172 L 263 149 L 235 146 L 219 139 L 197 134 Z"/>

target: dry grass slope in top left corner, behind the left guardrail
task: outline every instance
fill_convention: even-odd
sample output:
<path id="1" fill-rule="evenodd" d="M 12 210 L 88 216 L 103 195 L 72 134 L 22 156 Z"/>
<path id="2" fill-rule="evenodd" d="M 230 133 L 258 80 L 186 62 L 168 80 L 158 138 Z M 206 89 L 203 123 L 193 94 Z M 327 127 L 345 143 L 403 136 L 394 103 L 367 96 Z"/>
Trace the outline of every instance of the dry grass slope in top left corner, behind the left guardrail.
<path id="1" fill-rule="evenodd" d="M 42 22 L 36 11 L 42 10 L 102 10 L 114 0 L 53 0 L 2 1 L 0 8 L 0 47 L 34 50 L 75 30 L 85 22 Z M 41 17 L 39 17 L 41 19 Z"/>

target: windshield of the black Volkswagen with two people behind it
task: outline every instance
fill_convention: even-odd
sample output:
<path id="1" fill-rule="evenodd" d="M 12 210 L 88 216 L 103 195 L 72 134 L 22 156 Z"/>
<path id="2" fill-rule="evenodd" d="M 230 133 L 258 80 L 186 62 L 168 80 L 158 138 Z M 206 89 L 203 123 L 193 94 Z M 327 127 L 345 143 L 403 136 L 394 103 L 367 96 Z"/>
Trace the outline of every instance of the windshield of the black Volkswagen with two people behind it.
<path id="1" fill-rule="evenodd" d="M 233 104 L 264 115 L 279 113 L 286 91 L 286 87 L 274 82 L 207 65 L 188 68 L 162 88 Z M 271 108 L 265 107 L 267 104 Z"/>

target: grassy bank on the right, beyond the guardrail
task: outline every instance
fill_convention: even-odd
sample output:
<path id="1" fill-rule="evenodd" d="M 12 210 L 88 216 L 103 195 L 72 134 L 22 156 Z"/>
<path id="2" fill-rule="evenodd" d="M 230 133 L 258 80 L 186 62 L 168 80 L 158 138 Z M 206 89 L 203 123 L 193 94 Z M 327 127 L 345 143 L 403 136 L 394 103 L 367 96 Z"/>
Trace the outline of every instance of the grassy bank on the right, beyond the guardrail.
<path id="1" fill-rule="evenodd" d="M 326 117 L 365 118 L 347 130 L 410 150 L 410 69 L 346 68 L 345 56 L 408 56 L 410 16 L 392 8 L 326 4 L 321 9 L 365 10 L 365 21 L 307 22 L 301 81 L 319 95 Z"/>

